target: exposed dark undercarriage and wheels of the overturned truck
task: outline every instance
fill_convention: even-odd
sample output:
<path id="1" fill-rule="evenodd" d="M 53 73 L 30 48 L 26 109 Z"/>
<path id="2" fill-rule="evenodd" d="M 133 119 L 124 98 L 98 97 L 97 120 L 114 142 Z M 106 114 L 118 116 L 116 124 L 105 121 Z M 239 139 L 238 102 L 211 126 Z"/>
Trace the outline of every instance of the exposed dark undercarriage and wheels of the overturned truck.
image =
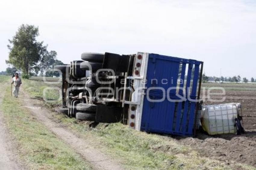
<path id="1" fill-rule="evenodd" d="M 128 109 L 124 107 L 123 99 L 129 100 L 131 93 L 124 90 L 130 83 L 124 82 L 124 78 L 132 76 L 135 56 L 83 53 L 83 61 L 55 66 L 62 72 L 63 108 L 68 116 L 126 124 Z"/>

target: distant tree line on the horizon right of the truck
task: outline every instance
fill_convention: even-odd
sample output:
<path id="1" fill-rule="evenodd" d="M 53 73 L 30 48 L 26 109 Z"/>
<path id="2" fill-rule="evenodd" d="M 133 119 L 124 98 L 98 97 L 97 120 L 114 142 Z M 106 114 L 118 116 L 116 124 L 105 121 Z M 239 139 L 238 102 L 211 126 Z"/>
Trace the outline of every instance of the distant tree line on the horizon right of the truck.
<path id="1" fill-rule="evenodd" d="M 221 76 L 221 77 L 215 77 L 215 76 L 211 77 L 211 76 L 206 76 L 205 74 L 203 74 L 202 81 L 203 82 L 207 82 L 207 81 L 215 81 L 215 82 L 217 82 L 217 81 L 227 81 L 227 82 L 236 82 L 236 83 L 243 81 L 243 82 L 247 83 L 249 80 L 246 77 L 241 78 L 240 75 L 233 76 L 233 77 L 223 77 L 223 76 Z M 254 79 L 253 77 L 251 77 L 251 82 L 256 82 L 256 78 Z"/>

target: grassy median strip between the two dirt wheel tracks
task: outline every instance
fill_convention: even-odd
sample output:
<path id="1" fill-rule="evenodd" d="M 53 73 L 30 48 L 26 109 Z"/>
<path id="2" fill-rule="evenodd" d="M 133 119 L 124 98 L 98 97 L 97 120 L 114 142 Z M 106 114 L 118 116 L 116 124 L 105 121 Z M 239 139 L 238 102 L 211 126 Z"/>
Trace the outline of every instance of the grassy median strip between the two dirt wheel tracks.
<path id="1" fill-rule="evenodd" d="M 19 156 L 30 169 L 92 169 L 44 125 L 12 98 L 10 89 L 1 104 L 4 121 L 19 145 Z"/>

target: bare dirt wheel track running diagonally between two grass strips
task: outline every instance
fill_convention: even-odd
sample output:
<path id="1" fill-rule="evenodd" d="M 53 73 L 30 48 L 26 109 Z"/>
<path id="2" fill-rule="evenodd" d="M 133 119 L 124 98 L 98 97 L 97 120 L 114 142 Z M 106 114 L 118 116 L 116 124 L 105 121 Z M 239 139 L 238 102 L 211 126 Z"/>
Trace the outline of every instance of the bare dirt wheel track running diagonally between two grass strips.
<path id="1" fill-rule="evenodd" d="M 39 107 L 35 99 L 30 99 L 29 95 L 21 88 L 19 95 L 20 101 L 24 106 L 29 108 L 33 116 L 37 120 L 42 122 L 49 130 L 51 130 L 58 138 L 68 144 L 76 153 L 83 156 L 92 167 L 99 170 L 120 170 L 123 167 L 115 162 L 111 157 L 101 153 L 99 150 L 92 147 L 92 145 L 82 138 L 79 138 L 69 130 L 65 129 L 61 124 L 54 122 L 47 115 L 50 115 L 49 111 Z"/>

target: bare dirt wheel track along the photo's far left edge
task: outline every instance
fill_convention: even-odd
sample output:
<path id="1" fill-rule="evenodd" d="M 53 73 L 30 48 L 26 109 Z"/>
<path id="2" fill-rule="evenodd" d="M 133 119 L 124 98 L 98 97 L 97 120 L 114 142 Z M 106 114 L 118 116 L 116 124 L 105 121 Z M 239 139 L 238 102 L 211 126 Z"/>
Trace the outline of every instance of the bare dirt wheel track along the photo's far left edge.
<path id="1" fill-rule="evenodd" d="M 0 83 L 3 88 L 6 83 Z M 0 103 L 2 103 L 3 93 L 0 93 Z M 1 170 L 20 170 L 25 169 L 18 164 L 14 141 L 4 125 L 3 114 L 0 111 L 0 169 Z"/>

